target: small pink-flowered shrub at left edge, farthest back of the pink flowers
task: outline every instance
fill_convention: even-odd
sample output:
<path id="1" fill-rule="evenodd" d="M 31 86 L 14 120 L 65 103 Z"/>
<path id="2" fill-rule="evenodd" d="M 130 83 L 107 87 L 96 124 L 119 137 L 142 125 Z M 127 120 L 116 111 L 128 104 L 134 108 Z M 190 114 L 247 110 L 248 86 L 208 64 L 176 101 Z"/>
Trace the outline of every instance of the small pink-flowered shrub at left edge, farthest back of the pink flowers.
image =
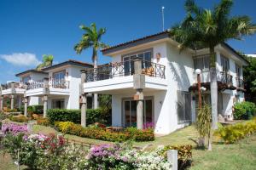
<path id="1" fill-rule="evenodd" d="M 26 125 L 17 125 L 15 123 L 4 123 L 4 124 L 2 124 L 1 130 L 4 134 L 27 133 L 27 126 Z"/>

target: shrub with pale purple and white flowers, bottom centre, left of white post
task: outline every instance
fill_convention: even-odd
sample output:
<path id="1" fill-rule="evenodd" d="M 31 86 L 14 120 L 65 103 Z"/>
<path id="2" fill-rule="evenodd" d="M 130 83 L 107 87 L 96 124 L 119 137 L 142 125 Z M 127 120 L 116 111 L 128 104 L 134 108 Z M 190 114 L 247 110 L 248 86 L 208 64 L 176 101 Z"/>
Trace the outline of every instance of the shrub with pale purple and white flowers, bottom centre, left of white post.
<path id="1" fill-rule="evenodd" d="M 171 164 L 159 150 L 141 152 L 132 150 L 130 144 L 100 144 L 90 149 L 85 169 L 170 169 Z"/>

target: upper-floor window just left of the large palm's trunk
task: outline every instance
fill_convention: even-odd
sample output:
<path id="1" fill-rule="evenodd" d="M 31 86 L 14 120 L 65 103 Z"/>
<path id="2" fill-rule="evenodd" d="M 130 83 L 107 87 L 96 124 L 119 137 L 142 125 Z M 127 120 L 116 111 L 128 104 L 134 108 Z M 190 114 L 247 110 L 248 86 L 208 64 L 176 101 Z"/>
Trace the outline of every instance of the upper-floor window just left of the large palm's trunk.
<path id="1" fill-rule="evenodd" d="M 200 69 L 201 71 L 209 71 L 210 56 L 209 55 L 195 56 L 194 67 L 195 67 L 195 70 Z"/>

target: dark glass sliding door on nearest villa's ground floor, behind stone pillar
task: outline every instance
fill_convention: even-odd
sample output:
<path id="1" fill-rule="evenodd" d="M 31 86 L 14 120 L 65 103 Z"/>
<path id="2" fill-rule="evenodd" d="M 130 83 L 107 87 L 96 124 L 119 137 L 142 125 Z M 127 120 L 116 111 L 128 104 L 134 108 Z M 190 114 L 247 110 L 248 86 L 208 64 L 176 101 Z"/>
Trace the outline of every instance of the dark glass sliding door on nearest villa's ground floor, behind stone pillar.
<path id="1" fill-rule="evenodd" d="M 143 122 L 154 122 L 153 99 L 143 100 Z M 137 101 L 123 100 L 123 115 L 125 127 L 137 127 Z"/>

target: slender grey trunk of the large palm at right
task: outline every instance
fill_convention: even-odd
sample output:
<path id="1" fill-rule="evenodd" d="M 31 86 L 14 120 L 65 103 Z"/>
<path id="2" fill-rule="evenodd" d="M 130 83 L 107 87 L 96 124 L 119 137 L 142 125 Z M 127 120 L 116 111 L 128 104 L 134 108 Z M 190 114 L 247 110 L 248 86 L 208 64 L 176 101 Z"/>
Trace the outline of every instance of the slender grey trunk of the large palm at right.
<path id="1" fill-rule="evenodd" d="M 217 85 L 217 72 L 216 72 L 216 56 L 214 53 L 214 47 L 210 47 L 210 79 L 211 79 L 211 104 L 212 104 L 212 130 L 218 128 L 218 85 Z M 212 150 L 212 133 L 210 135 L 208 150 Z"/>

